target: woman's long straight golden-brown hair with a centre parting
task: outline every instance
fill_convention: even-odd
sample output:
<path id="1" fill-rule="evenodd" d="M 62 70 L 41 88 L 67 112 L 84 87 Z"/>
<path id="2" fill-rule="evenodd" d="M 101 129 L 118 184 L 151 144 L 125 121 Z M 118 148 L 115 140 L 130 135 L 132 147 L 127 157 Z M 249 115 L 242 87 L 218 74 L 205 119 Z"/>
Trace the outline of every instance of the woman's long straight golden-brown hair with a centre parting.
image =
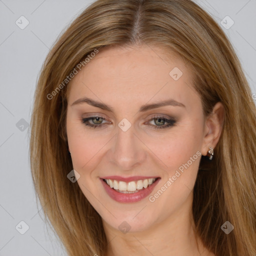
<path id="1" fill-rule="evenodd" d="M 91 52 L 129 44 L 162 46 L 186 59 L 205 116 L 216 102 L 224 105 L 213 160 L 201 158 L 194 186 L 195 233 L 216 256 L 255 256 L 256 109 L 230 42 L 191 0 L 97 0 L 55 42 L 40 71 L 30 125 L 31 172 L 45 217 L 69 256 L 105 254 L 101 217 L 67 178 L 63 81 Z M 234 226 L 229 234 L 220 229 L 225 221 Z"/>

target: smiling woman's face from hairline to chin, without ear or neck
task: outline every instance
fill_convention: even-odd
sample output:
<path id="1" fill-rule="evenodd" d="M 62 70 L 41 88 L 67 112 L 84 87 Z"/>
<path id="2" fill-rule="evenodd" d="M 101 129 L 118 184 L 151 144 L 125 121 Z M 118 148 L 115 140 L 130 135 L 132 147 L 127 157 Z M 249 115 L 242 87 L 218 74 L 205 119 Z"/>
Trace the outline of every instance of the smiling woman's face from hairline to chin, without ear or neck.
<path id="1" fill-rule="evenodd" d="M 192 73 L 168 55 L 148 46 L 99 50 L 68 85 L 78 185 L 103 223 L 121 231 L 188 213 L 209 146 Z"/>

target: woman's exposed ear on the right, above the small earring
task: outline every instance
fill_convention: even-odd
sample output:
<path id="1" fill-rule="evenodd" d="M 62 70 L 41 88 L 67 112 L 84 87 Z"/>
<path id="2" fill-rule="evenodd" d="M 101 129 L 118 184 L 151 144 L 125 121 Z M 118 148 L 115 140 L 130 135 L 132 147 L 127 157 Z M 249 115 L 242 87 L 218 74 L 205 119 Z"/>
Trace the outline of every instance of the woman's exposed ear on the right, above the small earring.
<path id="1" fill-rule="evenodd" d="M 225 109 L 221 102 L 217 102 L 212 112 L 205 118 L 204 137 L 201 148 L 202 155 L 206 155 L 209 147 L 216 146 L 222 132 Z"/>

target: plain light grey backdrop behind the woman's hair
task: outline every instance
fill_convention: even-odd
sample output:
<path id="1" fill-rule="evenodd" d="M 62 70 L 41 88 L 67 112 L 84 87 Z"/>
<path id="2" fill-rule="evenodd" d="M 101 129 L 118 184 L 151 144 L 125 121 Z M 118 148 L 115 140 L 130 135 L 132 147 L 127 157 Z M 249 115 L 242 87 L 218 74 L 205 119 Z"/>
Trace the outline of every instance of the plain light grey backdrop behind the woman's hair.
<path id="1" fill-rule="evenodd" d="M 0 0 L 0 255 L 66 255 L 36 205 L 28 162 L 33 93 L 49 48 L 91 0 Z M 256 93 L 256 0 L 197 0 L 221 24 Z M 24 28 L 24 16 L 29 24 Z M 225 26 L 231 20 L 224 19 Z M 254 94 L 256 98 L 256 94 Z M 28 230 L 25 231 L 25 221 Z M 15 228 L 16 227 L 16 228 Z"/>

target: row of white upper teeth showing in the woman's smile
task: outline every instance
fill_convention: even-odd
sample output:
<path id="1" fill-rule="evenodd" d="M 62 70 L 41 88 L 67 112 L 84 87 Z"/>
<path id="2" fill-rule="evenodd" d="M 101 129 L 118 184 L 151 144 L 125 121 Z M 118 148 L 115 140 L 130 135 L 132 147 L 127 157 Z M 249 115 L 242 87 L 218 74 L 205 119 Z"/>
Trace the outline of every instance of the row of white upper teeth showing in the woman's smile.
<path id="1" fill-rule="evenodd" d="M 130 182 L 117 181 L 115 179 L 105 179 L 105 181 L 111 188 L 119 191 L 136 191 L 143 187 L 147 188 L 148 185 L 151 185 L 155 181 L 155 179 L 156 178 L 146 178 Z"/>

